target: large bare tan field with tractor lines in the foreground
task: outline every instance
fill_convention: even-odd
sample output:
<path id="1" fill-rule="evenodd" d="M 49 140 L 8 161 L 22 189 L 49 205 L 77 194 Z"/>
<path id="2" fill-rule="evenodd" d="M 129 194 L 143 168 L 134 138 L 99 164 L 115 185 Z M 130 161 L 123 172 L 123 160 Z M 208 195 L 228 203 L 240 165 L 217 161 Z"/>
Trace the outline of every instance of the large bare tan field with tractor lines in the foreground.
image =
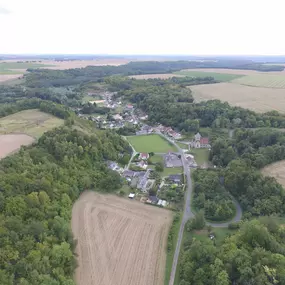
<path id="1" fill-rule="evenodd" d="M 163 285 L 172 212 L 84 192 L 72 210 L 77 285 Z"/>

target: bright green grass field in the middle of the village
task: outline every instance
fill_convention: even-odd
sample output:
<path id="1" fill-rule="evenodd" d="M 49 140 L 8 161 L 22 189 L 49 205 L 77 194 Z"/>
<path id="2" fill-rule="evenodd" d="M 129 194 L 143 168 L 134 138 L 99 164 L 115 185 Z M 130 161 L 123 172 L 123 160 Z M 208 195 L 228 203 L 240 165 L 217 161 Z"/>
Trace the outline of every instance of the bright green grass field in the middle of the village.
<path id="1" fill-rule="evenodd" d="M 130 136 L 127 139 L 137 152 L 165 153 L 177 151 L 174 145 L 159 135 Z"/>

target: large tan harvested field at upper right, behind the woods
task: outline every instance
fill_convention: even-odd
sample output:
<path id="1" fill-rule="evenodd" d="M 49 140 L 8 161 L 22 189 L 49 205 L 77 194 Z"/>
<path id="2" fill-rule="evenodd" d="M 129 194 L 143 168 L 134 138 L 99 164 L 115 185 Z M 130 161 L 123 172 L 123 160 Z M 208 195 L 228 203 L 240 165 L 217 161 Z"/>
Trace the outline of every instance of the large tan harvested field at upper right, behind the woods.
<path id="1" fill-rule="evenodd" d="M 256 112 L 285 113 L 285 90 L 251 87 L 236 83 L 204 84 L 189 87 L 196 102 L 219 99 Z"/>

